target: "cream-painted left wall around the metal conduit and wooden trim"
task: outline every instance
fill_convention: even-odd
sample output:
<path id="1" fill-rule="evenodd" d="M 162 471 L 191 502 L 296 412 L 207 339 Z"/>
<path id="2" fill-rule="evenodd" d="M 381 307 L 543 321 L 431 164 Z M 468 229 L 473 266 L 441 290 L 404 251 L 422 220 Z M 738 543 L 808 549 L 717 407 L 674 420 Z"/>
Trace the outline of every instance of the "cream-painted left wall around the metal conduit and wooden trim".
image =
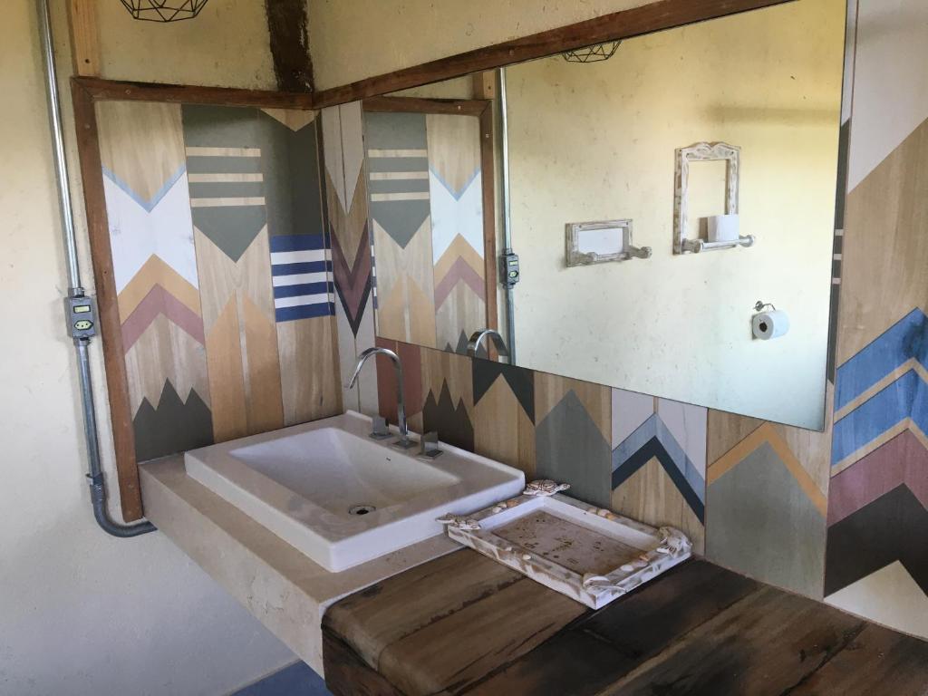
<path id="1" fill-rule="evenodd" d="M 213 2 L 212 16 L 204 14 L 179 34 L 135 23 L 117 2 L 101 3 L 107 18 L 101 29 L 120 32 L 124 42 L 104 60 L 107 71 L 196 82 L 198 72 L 183 59 L 187 41 L 201 45 L 203 82 L 273 87 L 269 61 L 253 54 L 254 46 L 266 45 L 266 27 L 251 14 L 238 22 L 230 16 L 230 8 L 245 5 L 257 4 Z M 56 30 L 66 36 L 61 16 Z M 133 41 L 133 32 L 146 40 L 136 35 Z M 239 51 L 230 32 L 251 55 Z M 246 32 L 249 37 L 242 36 Z M 0 693 L 227 693 L 291 662 L 292 654 L 165 537 L 117 540 L 93 520 L 73 349 L 61 322 L 67 282 L 37 37 L 34 2 L 8 0 L 0 23 L 0 93 L 6 96 L 0 281 L 12 291 L 0 361 Z M 108 35 L 104 44 L 114 41 Z M 156 48 L 165 62 L 146 55 Z M 59 60 L 62 72 L 70 71 L 67 53 Z M 67 106 L 70 97 L 64 99 Z M 72 164 L 76 169 L 76 159 Z M 83 228 L 81 243 L 86 250 Z M 84 274 L 90 285 L 86 259 Z M 98 348 L 97 396 L 105 422 Z M 102 444 L 111 459 L 109 433 Z"/>

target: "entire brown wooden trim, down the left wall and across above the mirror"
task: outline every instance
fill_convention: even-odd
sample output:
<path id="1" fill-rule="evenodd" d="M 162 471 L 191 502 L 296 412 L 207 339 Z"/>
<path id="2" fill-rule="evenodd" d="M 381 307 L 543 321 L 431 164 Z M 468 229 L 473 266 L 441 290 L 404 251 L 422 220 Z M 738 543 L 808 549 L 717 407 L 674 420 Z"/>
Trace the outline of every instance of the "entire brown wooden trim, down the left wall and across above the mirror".
<path id="1" fill-rule="evenodd" d="M 71 99 L 84 186 L 84 206 L 97 292 L 103 359 L 107 372 L 110 419 L 123 520 L 135 522 L 143 517 L 143 510 L 138 466 L 135 460 L 135 436 L 129 405 L 126 368 L 122 359 L 119 307 L 113 278 L 106 200 L 103 192 L 103 172 L 95 109 L 97 101 L 148 101 L 321 110 L 348 102 L 367 100 L 369 97 L 381 97 L 423 84 L 442 82 L 474 72 L 491 71 L 513 63 L 545 58 L 588 45 L 661 32 L 695 22 L 718 19 L 788 2 L 794 2 L 794 0 L 658 0 L 658 2 L 645 6 L 612 12 L 558 29 L 477 48 L 448 58 L 432 60 L 411 68 L 377 75 L 316 93 L 298 94 L 72 77 Z M 482 117 L 482 133 L 485 132 L 483 119 L 491 120 L 492 123 L 491 113 L 486 110 Z M 492 152 L 490 157 L 492 157 Z M 496 222 L 495 219 L 493 222 Z M 487 255 L 487 268 L 491 266 L 492 277 L 496 277 L 496 266 Z M 488 270 L 487 280 L 490 278 Z M 488 293 L 488 313 L 491 296 L 493 302 L 496 303 L 495 293 Z M 832 349 L 833 347 L 830 346 L 830 350 Z"/>

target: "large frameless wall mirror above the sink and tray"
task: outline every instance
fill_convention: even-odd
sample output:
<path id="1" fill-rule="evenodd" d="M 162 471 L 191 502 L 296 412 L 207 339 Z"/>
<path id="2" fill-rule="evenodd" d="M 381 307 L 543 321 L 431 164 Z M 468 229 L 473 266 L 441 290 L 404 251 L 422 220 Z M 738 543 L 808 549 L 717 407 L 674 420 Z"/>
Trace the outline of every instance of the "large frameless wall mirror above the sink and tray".
<path id="1" fill-rule="evenodd" d="M 470 78 L 366 102 L 378 334 L 498 329 L 522 367 L 822 429 L 845 21 L 798 0 L 511 65 L 505 134 Z"/>

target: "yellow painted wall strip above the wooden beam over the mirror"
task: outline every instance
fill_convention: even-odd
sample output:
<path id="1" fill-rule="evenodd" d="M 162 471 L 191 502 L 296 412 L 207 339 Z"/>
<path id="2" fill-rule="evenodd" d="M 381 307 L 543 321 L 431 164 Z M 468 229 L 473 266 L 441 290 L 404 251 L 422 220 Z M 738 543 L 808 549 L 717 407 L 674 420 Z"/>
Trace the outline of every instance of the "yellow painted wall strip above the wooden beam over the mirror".
<path id="1" fill-rule="evenodd" d="M 642 0 L 311 0 L 316 88 L 648 5 Z"/>

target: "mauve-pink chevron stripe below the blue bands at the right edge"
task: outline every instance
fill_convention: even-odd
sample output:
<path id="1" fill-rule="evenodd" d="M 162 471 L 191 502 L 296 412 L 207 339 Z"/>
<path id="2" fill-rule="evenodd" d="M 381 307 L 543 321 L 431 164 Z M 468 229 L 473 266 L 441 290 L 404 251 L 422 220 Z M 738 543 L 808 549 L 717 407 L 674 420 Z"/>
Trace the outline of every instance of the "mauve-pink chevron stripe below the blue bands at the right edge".
<path id="1" fill-rule="evenodd" d="M 910 431 L 900 432 L 879 449 L 831 479 L 828 523 L 841 522 L 905 483 L 928 509 L 928 449 Z"/>

